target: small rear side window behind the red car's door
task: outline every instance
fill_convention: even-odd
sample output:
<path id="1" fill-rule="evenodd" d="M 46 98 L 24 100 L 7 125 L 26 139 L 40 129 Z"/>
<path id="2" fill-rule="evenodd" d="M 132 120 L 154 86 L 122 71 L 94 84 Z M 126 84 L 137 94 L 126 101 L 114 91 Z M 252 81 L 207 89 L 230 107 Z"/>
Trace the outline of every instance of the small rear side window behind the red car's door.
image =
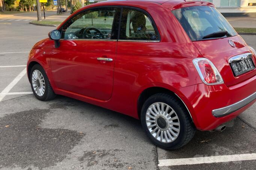
<path id="1" fill-rule="evenodd" d="M 121 40 L 158 40 L 158 33 L 149 16 L 140 10 L 123 8 Z"/>

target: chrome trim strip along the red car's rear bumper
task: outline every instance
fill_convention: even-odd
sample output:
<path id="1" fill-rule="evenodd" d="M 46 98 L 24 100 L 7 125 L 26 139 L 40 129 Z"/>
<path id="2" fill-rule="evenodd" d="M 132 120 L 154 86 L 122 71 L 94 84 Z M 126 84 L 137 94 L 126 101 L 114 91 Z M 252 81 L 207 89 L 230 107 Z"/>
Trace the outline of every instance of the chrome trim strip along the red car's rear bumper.
<path id="1" fill-rule="evenodd" d="M 244 107 L 247 104 L 249 104 L 250 102 L 254 101 L 254 99 L 256 99 L 256 92 L 253 93 L 252 95 L 248 96 L 247 98 L 242 99 L 241 101 L 236 102 L 232 105 L 226 106 L 224 108 L 219 108 L 219 109 L 212 110 L 212 115 L 214 115 L 215 117 L 226 116 L 226 115 L 231 114 L 235 111 L 238 111 L 242 107 Z"/>

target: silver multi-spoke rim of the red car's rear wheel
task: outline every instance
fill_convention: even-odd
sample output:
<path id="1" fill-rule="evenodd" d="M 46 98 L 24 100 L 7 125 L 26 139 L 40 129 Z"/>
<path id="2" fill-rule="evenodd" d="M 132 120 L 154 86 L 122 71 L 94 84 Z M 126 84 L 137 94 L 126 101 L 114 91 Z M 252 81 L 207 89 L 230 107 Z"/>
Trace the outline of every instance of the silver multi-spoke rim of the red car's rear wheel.
<path id="1" fill-rule="evenodd" d="M 163 102 L 149 106 L 146 124 L 151 135 L 163 143 L 173 142 L 179 136 L 179 118 L 173 108 Z"/>

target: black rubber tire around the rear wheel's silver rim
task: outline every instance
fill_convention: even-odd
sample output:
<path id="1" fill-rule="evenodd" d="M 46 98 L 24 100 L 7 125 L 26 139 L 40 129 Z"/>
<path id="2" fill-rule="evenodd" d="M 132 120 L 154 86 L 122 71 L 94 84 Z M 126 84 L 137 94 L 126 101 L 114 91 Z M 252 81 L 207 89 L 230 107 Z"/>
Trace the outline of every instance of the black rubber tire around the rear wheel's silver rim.
<path id="1" fill-rule="evenodd" d="M 156 103 L 156 102 L 163 102 L 169 105 L 171 108 L 174 109 L 174 111 L 176 112 L 179 118 L 180 132 L 178 137 L 173 142 L 170 142 L 170 143 L 161 142 L 160 140 L 155 139 L 155 137 L 151 135 L 151 133 L 149 132 L 149 129 L 146 124 L 146 112 L 149 106 L 151 106 L 153 103 Z M 175 98 L 174 96 L 166 93 L 155 94 L 149 97 L 145 101 L 142 107 L 142 112 L 141 112 L 141 122 L 142 122 L 142 127 L 145 130 L 146 135 L 149 137 L 149 139 L 158 147 L 163 149 L 168 149 L 168 150 L 178 149 L 186 145 L 193 138 L 196 132 L 194 123 L 191 120 L 191 117 L 187 109 L 183 105 L 183 103 L 179 101 L 177 98 Z"/>

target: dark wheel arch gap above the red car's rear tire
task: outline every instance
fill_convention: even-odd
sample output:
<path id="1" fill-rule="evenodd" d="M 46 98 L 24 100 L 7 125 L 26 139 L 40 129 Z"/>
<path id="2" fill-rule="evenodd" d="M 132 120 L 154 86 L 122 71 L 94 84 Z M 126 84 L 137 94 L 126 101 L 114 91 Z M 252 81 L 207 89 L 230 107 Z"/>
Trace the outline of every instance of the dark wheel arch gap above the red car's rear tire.
<path id="1" fill-rule="evenodd" d="M 187 105 L 182 101 L 182 99 L 173 91 L 166 89 L 164 87 L 149 87 L 140 93 L 140 96 L 137 100 L 137 112 L 138 112 L 138 117 L 140 118 L 142 106 L 145 103 L 145 101 L 152 95 L 155 95 L 157 93 L 166 93 L 169 95 L 174 96 L 178 101 L 181 101 L 182 105 L 187 109 L 188 114 L 190 115 L 191 120 L 193 121 L 193 117 L 187 107 Z"/>

